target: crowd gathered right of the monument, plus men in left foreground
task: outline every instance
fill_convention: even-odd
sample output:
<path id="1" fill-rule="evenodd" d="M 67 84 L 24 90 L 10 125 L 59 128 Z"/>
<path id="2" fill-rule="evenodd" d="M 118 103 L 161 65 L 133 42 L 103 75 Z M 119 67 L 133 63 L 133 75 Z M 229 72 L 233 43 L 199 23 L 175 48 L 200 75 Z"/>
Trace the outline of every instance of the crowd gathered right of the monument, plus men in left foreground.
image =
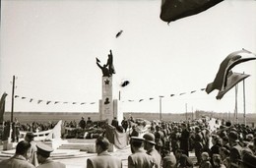
<path id="1" fill-rule="evenodd" d="M 81 119 L 83 120 L 84 118 Z M 256 129 L 249 126 L 231 124 L 229 121 L 219 124 L 219 120 L 216 120 L 213 130 L 209 125 L 210 119 L 152 121 L 149 132 L 142 135 L 137 131 L 136 125 L 145 123 L 131 120 L 133 118 L 126 120 L 127 128 L 122 131 L 126 133 L 130 128 L 127 134 L 131 150 L 127 158 L 128 168 L 256 168 Z M 115 119 L 111 124 L 116 128 L 122 127 Z M 79 126 L 87 128 L 87 122 L 80 122 Z M 122 161 L 108 153 L 109 146 L 110 142 L 104 135 L 98 136 L 96 156 L 87 159 L 87 167 L 121 168 Z M 25 167 L 43 167 L 46 163 L 47 167 L 65 167 L 49 159 L 52 150 L 49 146 L 35 143 L 31 132 L 26 135 L 25 140 L 18 143 L 13 157 L 0 162 L 0 167 L 9 168 L 8 165 L 15 165 L 20 161 L 22 163 L 19 163 L 19 167 L 23 164 L 27 165 Z M 191 152 L 195 153 L 196 162 L 192 160 Z"/>

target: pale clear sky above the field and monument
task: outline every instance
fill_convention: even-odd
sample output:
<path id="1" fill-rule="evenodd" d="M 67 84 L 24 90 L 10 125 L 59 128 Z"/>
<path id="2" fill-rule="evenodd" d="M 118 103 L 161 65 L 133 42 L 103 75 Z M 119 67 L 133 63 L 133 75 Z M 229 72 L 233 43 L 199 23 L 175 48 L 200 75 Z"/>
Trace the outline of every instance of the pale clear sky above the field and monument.
<path id="1" fill-rule="evenodd" d="M 254 0 L 225 0 L 167 25 L 160 20 L 160 0 L 2 0 L 0 93 L 8 93 L 6 111 L 15 76 L 15 112 L 97 112 L 102 74 L 96 57 L 105 63 L 111 49 L 113 96 L 121 92 L 123 112 L 161 107 L 162 113 L 232 113 L 234 88 L 221 100 L 218 90 L 201 88 L 214 81 L 229 53 L 256 53 L 255 14 Z M 256 112 L 255 70 L 256 61 L 233 68 L 251 75 L 245 80 L 247 113 Z M 121 87 L 126 80 L 130 84 Z M 242 90 L 240 83 L 239 113 Z"/>

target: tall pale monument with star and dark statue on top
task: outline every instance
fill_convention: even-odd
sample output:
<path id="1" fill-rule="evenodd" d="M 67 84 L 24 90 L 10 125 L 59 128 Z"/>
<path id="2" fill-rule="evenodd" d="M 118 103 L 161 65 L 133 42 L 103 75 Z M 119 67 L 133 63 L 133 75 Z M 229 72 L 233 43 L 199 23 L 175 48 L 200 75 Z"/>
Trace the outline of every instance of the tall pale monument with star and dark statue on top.
<path id="1" fill-rule="evenodd" d="M 100 61 L 96 58 L 96 65 L 102 72 L 102 95 L 98 103 L 99 120 L 107 120 L 108 124 L 111 124 L 112 119 L 116 117 L 120 124 L 123 119 L 123 113 L 120 112 L 118 108 L 118 100 L 113 99 L 112 83 L 115 69 L 112 51 L 110 50 L 109 52 L 107 62 L 102 66 L 100 65 Z"/>

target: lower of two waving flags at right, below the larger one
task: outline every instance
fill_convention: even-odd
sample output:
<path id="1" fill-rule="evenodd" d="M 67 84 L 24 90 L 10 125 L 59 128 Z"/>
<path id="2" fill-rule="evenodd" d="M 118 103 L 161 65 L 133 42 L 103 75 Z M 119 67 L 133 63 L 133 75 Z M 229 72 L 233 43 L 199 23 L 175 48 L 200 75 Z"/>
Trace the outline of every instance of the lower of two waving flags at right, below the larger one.
<path id="1" fill-rule="evenodd" d="M 216 96 L 217 99 L 222 99 L 224 94 L 231 89 L 235 84 L 240 83 L 241 81 L 245 80 L 249 75 L 247 74 L 240 74 L 240 73 L 232 73 L 230 72 L 227 80 L 226 80 L 226 86 L 223 86 L 223 88 L 219 91 L 218 95 Z"/>

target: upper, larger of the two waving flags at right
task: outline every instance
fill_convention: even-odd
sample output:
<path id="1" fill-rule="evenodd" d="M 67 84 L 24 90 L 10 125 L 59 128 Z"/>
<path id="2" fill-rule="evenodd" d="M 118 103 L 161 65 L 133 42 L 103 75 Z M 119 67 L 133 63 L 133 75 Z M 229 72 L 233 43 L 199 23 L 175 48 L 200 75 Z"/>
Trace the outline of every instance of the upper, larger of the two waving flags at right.
<path id="1" fill-rule="evenodd" d="M 228 69 L 228 66 L 232 65 L 232 63 L 238 61 L 239 59 L 241 59 L 241 56 L 238 54 L 241 53 L 251 53 L 249 51 L 246 50 L 240 50 L 240 51 L 235 51 L 230 53 L 227 57 L 225 57 L 224 61 L 221 63 L 221 66 L 219 68 L 219 71 L 216 75 L 216 78 L 214 80 L 213 83 L 207 84 L 206 87 L 206 92 L 209 94 L 210 92 L 212 92 L 214 89 L 218 89 L 221 90 L 224 84 L 224 79 L 225 79 L 225 75 L 228 75 L 228 72 L 226 72 L 226 70 Z M 237 64 L 235 64 L 237 65 Z"/>

